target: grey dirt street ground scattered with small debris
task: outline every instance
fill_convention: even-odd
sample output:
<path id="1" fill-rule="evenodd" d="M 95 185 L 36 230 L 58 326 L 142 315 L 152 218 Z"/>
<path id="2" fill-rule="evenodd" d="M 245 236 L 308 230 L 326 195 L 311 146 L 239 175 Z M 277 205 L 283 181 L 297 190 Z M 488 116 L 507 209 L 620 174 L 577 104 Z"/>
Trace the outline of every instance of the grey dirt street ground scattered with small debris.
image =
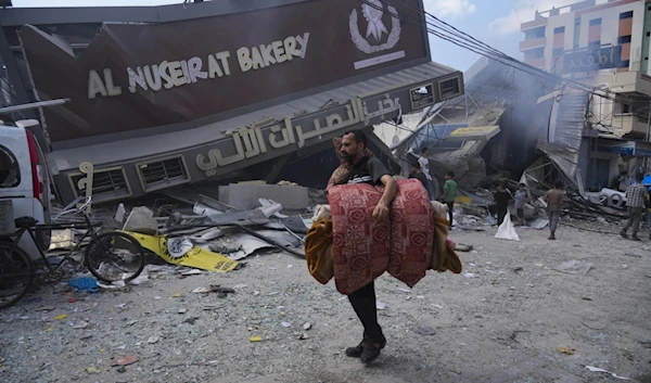
<path id="1" fill-rule="evenodd" d="M 556 242 L 532 229 L 518 229 L 521 241 L 510 242 L 494 239 L 495 232 L 451 234 L 474 246 L 459 255 L 464 272 L 477 278 L 432 272 L 411 291 L 391 277 L 379 279 L 388 344 L 369 367 L 343 353 L 359 342 L 361 325 L 333 282 L 317 283 L 302 259 L 267 254 L 228 275 L 163 275 L 130 292 L 74 303 L 65 285 L 41 288 L 0 311 L 0 381 L 617 381 L 586 366 L 648 381 L 649 240 L 561 227 Z M 587 275 L 554 270 L 573 259 L 593 268 Z M 210 284 L 237 292 L 226 298 L 192 293 Z M 302 332 L 307 339 L 299 340 Z M 111 365 L 124 355 L 139 361 L 119 372 Z M 90 367 L 99 372 L 85 370 Z"/>

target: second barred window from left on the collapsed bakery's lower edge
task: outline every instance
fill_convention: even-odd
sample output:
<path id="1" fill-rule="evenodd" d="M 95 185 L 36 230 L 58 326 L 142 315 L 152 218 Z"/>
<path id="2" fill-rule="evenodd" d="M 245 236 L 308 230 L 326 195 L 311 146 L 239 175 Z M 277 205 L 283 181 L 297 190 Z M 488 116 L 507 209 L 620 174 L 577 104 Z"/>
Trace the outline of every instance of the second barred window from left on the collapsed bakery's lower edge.
<path id="1" fill-rule="evenodd" d="M 138 165 L 144 191 L 169 188 L 190 181 L 182 156 Z"/>

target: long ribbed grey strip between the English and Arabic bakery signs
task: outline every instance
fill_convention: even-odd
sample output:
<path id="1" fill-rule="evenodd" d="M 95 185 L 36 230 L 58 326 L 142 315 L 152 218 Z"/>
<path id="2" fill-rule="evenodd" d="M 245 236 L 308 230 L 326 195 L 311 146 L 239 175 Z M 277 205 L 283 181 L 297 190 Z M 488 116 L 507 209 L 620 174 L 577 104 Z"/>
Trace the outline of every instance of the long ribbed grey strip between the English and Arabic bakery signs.
<path id="1" fill-rule="evenodd" d="M 194 129 L 60 150 L 49 154 L 49 158 L 58 164 L 59 169 L 63 170 L 64 168 L 76 168 L 85 161 L 93 164 L 106 164 L 130 159 L 136 156 L 162 155 L 214 141 L 224 136 L 222 131 L 225 130 L 254 124 L 266 117 L 282 119 L 302 112 L 311 113 L 320 110 L 331 100 L 343 104 L 357 95 L 378 93 L 456 72 L 458 71 L 430 62 Z"/>

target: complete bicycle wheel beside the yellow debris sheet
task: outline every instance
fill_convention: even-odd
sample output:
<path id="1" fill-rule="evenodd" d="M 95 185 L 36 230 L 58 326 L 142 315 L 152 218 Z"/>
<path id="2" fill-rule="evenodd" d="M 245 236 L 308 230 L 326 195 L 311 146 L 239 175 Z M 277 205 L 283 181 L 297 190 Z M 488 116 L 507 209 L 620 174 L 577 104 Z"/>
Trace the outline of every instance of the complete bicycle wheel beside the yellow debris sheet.
<path id="1" fill-rule="evenodd" d="M 111 231 L 90 242 L 86 247 L 85 263 L 99 280 L 130 281 L 144 268 L 144 248 L 133 237 Z"/>

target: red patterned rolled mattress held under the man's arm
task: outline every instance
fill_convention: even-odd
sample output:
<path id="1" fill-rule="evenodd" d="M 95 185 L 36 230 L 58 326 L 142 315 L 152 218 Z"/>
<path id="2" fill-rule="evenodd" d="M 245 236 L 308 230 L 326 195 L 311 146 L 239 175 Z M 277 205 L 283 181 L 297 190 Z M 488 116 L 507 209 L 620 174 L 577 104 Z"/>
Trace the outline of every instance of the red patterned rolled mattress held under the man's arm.
<path id="1" fill-rule="evenodd" d="M 418 179 L 400 179 L 390 220 L 372 219 L 383 187 L 365 183 L 332 187 L 332 253 L 336 290 L 348 295 L 388 271 L 410 288 L 430 268 L 433 212 Z"/>

